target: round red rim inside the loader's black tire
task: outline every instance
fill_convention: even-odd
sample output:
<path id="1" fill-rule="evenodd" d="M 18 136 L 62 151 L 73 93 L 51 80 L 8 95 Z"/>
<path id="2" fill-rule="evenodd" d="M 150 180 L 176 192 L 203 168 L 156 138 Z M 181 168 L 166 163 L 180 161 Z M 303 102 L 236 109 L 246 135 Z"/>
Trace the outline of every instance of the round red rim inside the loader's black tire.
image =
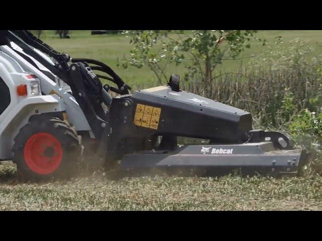
<path id="1" fill-rule="evenodd" d="M 27 166 L 35 173 L 53 173 L 62 161 L 62 148 L 59 141 L 48 133 L 31 136 L 24 149 Z"/>

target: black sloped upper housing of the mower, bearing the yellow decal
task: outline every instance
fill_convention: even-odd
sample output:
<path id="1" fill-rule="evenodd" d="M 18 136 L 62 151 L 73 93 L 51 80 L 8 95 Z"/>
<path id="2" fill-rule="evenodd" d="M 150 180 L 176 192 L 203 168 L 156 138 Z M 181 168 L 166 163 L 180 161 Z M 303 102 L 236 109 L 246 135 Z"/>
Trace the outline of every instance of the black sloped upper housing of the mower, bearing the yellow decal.
<path id="1" fill-rule="evenodd" d="M 137 104 L 161 108 L 157 130 L 134 125 Z M 172 91 L 169 86 L 113 98 L 109 112 L 112 135 L 139 137 L 153 133 L 238 144 L 247 141 L 247 133 L 252 130 L 249 112 L 187 91 Z"/>

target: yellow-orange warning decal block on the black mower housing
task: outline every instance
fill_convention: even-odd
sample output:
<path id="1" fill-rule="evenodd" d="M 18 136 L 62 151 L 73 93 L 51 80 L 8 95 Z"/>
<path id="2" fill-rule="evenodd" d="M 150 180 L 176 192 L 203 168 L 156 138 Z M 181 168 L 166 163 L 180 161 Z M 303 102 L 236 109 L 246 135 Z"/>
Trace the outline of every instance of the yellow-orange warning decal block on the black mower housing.
<path id="1" fill-rule="evenodd" d="M 134 124 L 139 127 L 157 130 L 160 114 L 161 108 L 159 107 L 137 104 L 134 115 Z"/>

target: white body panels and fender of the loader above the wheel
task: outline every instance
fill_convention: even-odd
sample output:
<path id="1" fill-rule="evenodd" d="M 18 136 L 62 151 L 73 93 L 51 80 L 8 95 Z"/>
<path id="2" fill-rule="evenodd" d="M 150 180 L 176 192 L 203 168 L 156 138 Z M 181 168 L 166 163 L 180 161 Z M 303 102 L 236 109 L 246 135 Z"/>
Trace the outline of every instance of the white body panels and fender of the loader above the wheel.
<path id="1" fill-rule="evenodd" d="M 65 111 L 69 123 L 77 131 L 91 131 L 82 109 L 74 97 L 67 92 L 70 89 L 69 86 L 13 42 L 11 44 L 12 48 L 6 45 L 0 46 L 0 81 L 3 81 L 2 85 L 7 86 L 10 92 L 10 101 L 5 101 L 10 104 L 3 106 L 4 111 L 0 113 L 0 160 L 12 159 L 14 137 L 28 123 L 32 115 Z M 32 59 L 39 69 L 51 74 L 56 82 L 14 50 Z M 54 64 L 48 56 L 42 55 L 48 62 Z M 27 93 L 24 96 L 17 92 L 20 85 L 26 85 Z M 37 88 L 38 91 L 35 90 Z"/>

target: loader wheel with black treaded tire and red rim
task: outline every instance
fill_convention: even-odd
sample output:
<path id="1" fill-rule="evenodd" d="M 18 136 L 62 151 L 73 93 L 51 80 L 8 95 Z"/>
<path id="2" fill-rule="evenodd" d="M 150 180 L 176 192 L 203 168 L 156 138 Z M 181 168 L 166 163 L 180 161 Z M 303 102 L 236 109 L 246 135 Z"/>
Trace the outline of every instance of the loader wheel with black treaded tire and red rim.
<path id="1" fill-rule="evenodd" d="M 53 140 L 51 142 L 52 146 L 47 146 L 48 144 L 40 145 L 42 140 L 39 138 L 38 140 L 35 139 L 35 137 L 41 138 L 43 136 L 49 138 L 44 143 L 50 143 L 50 140 Z M 82 160 L 83 146 L 81 140 L 81 136 L 78 136 L 76 131 L 66 121 L 56 117 L 51 119 L 34 119 L 20 129 L 20 132 L 14 139 L 13 162 L 17 164 L 18 174 L 23 179 L 37 181 L 71 177 L 78 170 Z M 59 144 L 57 144 L 57 141 Z M 37 142 L 40 145 L 40 153 L 37 153 L 37 151 L 32 152 L 37 147 L 35 147 Z M 31 145 L 28 143 L 31 143 Z M 38 154 L 40 156 L 37 156 Z M 43 159 L 43 157 L 47 159 Z M 42 163 L 39 164 L 38 162 L 37 164 L 37 160 L 41 160 Z M 31 167 L 30 163 L 35 165 L 35 167 Z M 51 170 L 49 173 L 47 167 L 43 168 L 41 166 L 44 163 L 48 164 Z"/>

